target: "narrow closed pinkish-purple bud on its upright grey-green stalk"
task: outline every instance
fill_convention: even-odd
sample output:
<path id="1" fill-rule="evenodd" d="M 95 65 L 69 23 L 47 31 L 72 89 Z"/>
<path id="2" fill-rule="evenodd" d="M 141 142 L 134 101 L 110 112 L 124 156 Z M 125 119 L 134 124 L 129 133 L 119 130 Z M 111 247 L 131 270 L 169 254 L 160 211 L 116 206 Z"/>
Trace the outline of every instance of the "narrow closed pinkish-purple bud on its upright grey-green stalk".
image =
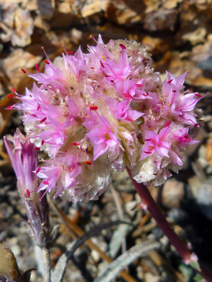
<path id="1" fill-rule="evenodd" d="M 25 222 L 33 242 L 43 253 L 45 282 L 50 282 L 50 227 L 48 218 L 48 204 L 43 193 L 33 193 L 38 190 L 40 180 L 33 173 L 38 165 L 35 145 L 27 140 L 17 129 L 14 137 L 4 136 L 4 144 L 12 162 L 19 195 L 26 209 L 29 222 Z M 39 201 L 43 198 L 42 201 Z"/>

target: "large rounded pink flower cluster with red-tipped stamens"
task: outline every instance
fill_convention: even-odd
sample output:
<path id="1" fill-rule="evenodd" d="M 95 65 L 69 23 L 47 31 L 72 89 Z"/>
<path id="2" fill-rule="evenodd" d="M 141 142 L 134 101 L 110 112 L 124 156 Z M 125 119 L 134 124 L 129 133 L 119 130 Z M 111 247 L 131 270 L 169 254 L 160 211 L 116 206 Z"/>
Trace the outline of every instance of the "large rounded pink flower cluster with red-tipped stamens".
<path id="1" fill-rule="evenodd" d="M 163 83 L 144 46 L 99 35 L 96 46 L 80 47 L 45 71 L 36 65 L 32 91 L 19 96 L 27 138 L 49 155 L 34 172 L 40 190 L 68 201 L 97 199 L 113 170 L 126 166 L 137 182 L 160 185 L 182 168 L 180 152 L 195 144 L 202 98 L 184 91 L 187 72 Z M 24 71 L 24 70 L 23 70 Z M 25 72 L 25 71 L 24 71 Z"/>

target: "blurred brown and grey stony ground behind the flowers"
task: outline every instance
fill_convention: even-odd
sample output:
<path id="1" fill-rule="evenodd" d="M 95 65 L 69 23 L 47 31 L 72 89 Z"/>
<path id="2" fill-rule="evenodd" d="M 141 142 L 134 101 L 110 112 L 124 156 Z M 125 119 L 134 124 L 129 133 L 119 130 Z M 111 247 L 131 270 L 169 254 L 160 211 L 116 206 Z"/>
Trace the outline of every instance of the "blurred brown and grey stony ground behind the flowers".
<path id="1" fill-rule="evenodd" d="M 21 68 L 34 73 L 38 64 L 40 71 L 44 70 L 42 46 L 53 61 L 63 52 L 62 44 L 67 51 L 75 52 L 81 45 L 86 52 L 87 44 L 95 45 L 90 35 L 97 39 L 98 34 L 104 43 L 125 38 L 141 42 L 152 54 L 162 80 L 166 70 L 175 76 L 189 70 L 186 87 L 201 95 L 209 92 L 197 105 L 205 115 L 205 126 L 198 135 L 200 143 L 185 152 L 179 175 L 173 174 L 152 193 L 176 232 L 191 242 L 193 250 L 211 267 L 212 0 L 0 0 L 0 241 L 11 241 L 21 270 L 38 267 L 35 260 L 39 261 L 39 252 L 23 226 L 21 218 L 26 219 L 26 215 L 3 145 L 3 135 L 14 134 L 17 127 L 24 132 L 21 112 L 5 110 L 16 102 L 8 94 L 12 87 L 21 95 L 25 87 L 32 87 L 33 79 Z M 74 239 L 64 217 L 84 231 L 101 222 L 124 219 L 137 227 L 109 228 L 92 239 L 103 252 L 114 259 L 150 236 L 161 242 L 160 251 L 136 260 L 128 269 L 130 275 L 145 282 L 194 281 L 192 270 L 182 263 L 148 213 L 132 211 L 138 202 L 126 173 L 115 173 L 113 188 L 98 201 L 77 205 L 54 201 L 64 215 L 58 217 L 50 210 L 52 227 L 59 224 L 51 249 L 52 267 L 66 243 Z M 98 252 L 81 247 L 69 262 L 64 281 L 93 281 L 104 264 Z M 39 272 L 32 273 L 31 281 L 41 281 Z"/>

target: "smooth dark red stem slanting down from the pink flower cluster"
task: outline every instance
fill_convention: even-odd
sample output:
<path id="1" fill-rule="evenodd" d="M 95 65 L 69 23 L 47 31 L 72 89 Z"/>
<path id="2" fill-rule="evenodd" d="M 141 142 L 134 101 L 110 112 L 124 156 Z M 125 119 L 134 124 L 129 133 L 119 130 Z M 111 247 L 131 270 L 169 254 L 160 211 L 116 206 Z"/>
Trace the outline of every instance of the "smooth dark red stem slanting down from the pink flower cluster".
<path id="1" fill-rule="evenodd" d="M 141 201 L 144 205 L 147 205 L 147 209 L 152 215 L 152 217 L 157 222 L 160 229 L 168 237 L 170 243 L 176 248 L 177 252 L 183 259 L 190 259 L 191 251 L 189 248 L 181 241 L 179 236 L 174 232 L 170 224 L 167 222 L 166 217 L 162 214 L 160 207 L 156 204 L 155 200 L 152 198 L 149 189 L 143 184 L 136 182 L 131 175 L 130 169 L 127 167 L 127 172 L 129 177 L 133 181 L 133 185 L 139 194 Z M 201 276 L 208 282 L 212 282 L 212 273 L 204 267 L 204 265 L 198 261 L 200 266 L 200 271 L 195 269 Z"/>

